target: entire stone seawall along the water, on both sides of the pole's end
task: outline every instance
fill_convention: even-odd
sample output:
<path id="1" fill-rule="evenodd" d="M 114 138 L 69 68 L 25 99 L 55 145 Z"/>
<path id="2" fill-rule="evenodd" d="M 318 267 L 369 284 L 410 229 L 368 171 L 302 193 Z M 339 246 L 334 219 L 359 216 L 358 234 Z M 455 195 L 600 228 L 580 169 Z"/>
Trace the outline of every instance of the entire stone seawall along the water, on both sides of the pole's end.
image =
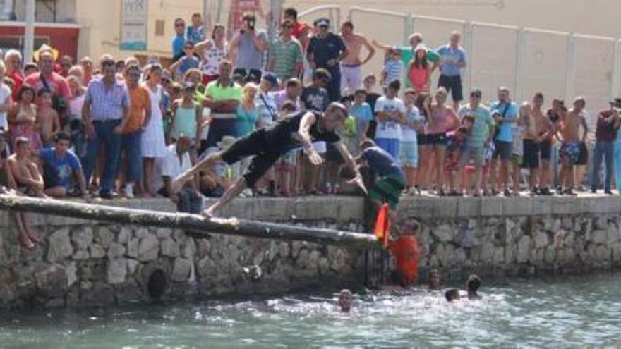
<path id="1" fill-rule="evenodd" d="M 167 200 L 111 204 L 174 210 Z M 421 223 L 423 279 L 430 268 L 463 280 L 473 271 L 500 277 L 621 266 L 621 197 L 415 197 L 400 209 Z M 224 212 L 349 231 L 363 231 L 365 214 L 356 197 L 241 199 Z M 35 251 L 18 247 L 13 222 L 0 212 L 0 307 L 334 290 L 361 286 L 364 277 L 363 253 L 343 247 L 28 217 L 43 237 Z"/>

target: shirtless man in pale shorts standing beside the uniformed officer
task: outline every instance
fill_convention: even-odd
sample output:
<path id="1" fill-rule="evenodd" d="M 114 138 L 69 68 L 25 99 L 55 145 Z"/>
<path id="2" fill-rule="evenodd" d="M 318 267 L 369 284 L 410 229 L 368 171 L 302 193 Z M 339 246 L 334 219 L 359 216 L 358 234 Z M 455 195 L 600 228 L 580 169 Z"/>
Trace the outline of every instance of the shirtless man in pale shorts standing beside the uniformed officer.
<path id="1" fill-rule="evenodd" d="M 362 66 L 373 58 L 375 49 L 366 37 L 354 33 L 354 23 L 343 23 L 341 37 L 349 49 L 349 54 L 341 61 L 341 90 L 354 92 L 362 87 Z M 368 51 L 363 61 L 360 59 L 362 47 L 366 47 Z"/>

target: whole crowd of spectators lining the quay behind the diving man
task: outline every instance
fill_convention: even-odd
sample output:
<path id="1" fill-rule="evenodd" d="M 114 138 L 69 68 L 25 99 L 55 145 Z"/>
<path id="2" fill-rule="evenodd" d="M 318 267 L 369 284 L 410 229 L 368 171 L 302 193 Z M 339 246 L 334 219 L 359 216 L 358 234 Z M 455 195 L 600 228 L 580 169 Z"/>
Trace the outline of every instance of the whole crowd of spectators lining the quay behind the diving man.
<path id="1" fill-rule="evenodd" d="M 427 47 L 420 33 L 411 35 L 409 46 L 397 47 L 369 42 L 351 22 L 340 34 L 327 18 L 309 25 L 287 8 L 270 42 L 255 13 L 239 16 L 232 36 L 223 25 L 203 27 L 199 13 L 188 26 L 177 18 L 174 63 L 167 68 L 157 56 L 145 64 L 108 54 L 96 63 L 89 57 L 76 62 L 44 45 L 35 62 L 23 62 L 19 51 L 7 51 L 0 63 L 3 190 L 86 200 L 161 195 L 183 212 L 200 212 L 203 197 L 222 195 L 248 163 L 215 166 L 174 193 L 176 176 L 255 128 L 269 128 L 294 111 L 325 111 L 337 101 L 349 109 L 340 132 L 350 152 L 375 140 L 402 166 L 404 195 L 509 197 L 524 189 L 574 195 L 580 188 L 575 178 L 584 175 L 589 157 L 585 100 L 577 97 L 566 107 L 553 99 L 547 108 L 541 93 L 517 103 L 499 87 L 497 96 L 473 89 L 464 101 L 467 54 L 459 32 L 437 49 Z M 362 67 L 377 52 L 382 71 L 363 76 Z M 437 87 L 431 86 L 433 75 Z M 609 194 L 615 159 L 621 163 L 620 109 L 621 99 L 615 99 L 598 114 L 593 192 L 600 189 L 602 160 Z M 341 191 L 339 153 L 325 142 L 313 147 L 325 164 L 314 166 L 301 150 L 291 151 L 244 195 Z M 621 183 L 621 166 L 616 178 Z M 37 238 L 23 215 L 15 219 L 20 243 L 32 248 Z"/>

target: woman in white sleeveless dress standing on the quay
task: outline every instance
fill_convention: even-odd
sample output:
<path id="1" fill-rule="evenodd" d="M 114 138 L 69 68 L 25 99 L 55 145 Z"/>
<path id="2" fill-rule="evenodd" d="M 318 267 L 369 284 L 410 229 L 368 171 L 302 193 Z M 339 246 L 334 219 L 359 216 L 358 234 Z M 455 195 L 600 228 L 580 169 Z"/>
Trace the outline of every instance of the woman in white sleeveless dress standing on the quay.
<path id="1" fill-rule="evenodd" d="M 159 82 L 162 80 L 162 66 L 152 64 L 147 67 L 147 82 L 145 87 L 149 90 L 151 98 L 151 117 L 145 123 L 141 146 L 145 166 L 145 195 L 153 197 L 155 192 L 152 188 L 155 159 L 166 156 L 166 142 L 164 138 L 164 124 L 162 122 L 162 94 L 164 90 Z"/>

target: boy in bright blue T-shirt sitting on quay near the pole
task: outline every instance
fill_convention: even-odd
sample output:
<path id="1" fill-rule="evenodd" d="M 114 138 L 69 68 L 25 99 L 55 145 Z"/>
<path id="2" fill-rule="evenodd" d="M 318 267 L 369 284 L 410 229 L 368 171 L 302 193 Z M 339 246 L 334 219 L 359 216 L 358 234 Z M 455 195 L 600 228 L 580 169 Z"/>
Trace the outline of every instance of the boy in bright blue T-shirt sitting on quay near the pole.
<path id="1" fill-rule="evenodd" d="M 76 154 L 69 152 L 69 140 L 68 134 L 58 133 L 54 137 L 54 147 L 39 152 L 43 166 L 44 192 L 45 195 L 55 198 L 66 197 L 71 184 L 78 183 L 80 193 L 86 198 L 86 181 L 82 166 Z"/>

